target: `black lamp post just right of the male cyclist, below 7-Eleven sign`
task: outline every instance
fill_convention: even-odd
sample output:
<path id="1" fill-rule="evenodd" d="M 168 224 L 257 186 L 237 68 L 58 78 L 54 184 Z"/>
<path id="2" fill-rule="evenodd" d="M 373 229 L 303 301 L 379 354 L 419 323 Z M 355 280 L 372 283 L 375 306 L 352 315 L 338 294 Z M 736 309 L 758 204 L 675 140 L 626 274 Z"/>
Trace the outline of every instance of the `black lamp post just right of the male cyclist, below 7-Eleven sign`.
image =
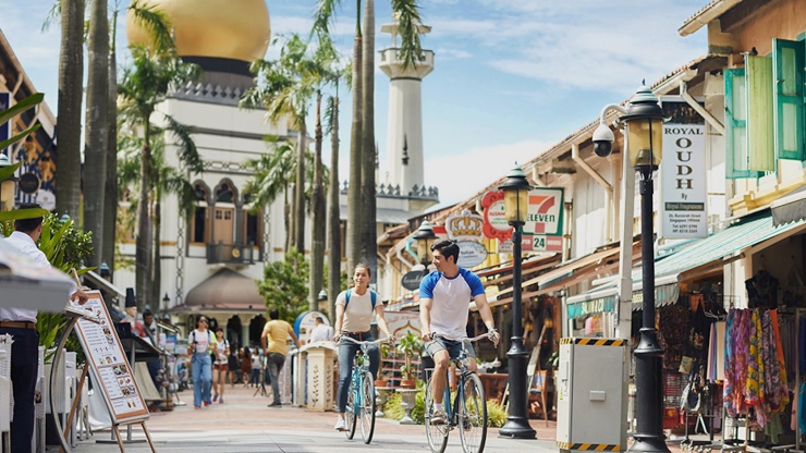
<path id="1" fill-rule="evenodd" d="M 504 213 L 506 222 L 514 228 L 512 232 L 512 344 L 506 353 L 509 358 L 510 414 L 506 424 L 498 431 L 500 437 L 513 439 L 535 439 L 536 432 L 529 426 L 526 414 L 528 395 L 526 392 L 526 351 L 523 346 L 523 304 L 521 302 L 521 240 L 523 225 L 528 211 L 529 189 L 526 174 L 521 167 L 510 170 L 499 189 L 504 193 Z"/>

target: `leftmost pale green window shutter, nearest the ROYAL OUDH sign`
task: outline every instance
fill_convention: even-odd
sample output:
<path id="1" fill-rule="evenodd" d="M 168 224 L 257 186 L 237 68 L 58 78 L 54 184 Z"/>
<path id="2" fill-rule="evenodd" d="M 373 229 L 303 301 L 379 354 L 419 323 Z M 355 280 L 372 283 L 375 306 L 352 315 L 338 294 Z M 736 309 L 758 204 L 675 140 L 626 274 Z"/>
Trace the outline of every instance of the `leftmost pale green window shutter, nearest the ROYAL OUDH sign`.
<path id="1" fill-rule="evenodd" d="M 724 71 L 726 177 L 756 177 L 747 155 L 747 77 L 744 68 Z"/>

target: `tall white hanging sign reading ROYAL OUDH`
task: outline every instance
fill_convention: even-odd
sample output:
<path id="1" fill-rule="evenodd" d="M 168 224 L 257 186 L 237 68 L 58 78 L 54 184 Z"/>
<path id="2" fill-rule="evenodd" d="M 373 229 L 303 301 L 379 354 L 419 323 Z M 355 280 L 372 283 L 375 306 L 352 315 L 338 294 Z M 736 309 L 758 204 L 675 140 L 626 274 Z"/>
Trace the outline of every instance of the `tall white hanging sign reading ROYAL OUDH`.
<path id="1" fill-rule="evenodd" d="M 660 219 L 663 237 L 708 237 L 705 120 L 676 96 L 664 96 Z"/>

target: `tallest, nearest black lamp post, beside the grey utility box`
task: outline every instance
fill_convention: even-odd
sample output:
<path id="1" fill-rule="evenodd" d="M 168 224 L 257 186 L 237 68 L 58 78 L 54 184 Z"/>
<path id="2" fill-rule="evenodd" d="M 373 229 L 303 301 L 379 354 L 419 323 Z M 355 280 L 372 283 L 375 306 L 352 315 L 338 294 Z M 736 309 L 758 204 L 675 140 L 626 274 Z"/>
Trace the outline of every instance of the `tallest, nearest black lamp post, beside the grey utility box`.
<path id="1" fill-rule="evenodd" d="M 663 347 L 655 328 L 655 254 L 652 243 L 652 172 L 662 157 L 663 110 L 646 86 L 630 100 L 626 114 L 630 162 L 640 174 L 640 260 L 644 301 L 640 341 L 635 350 L 636 432 L 631 452 L 669 452 L 663 436 Z"/>

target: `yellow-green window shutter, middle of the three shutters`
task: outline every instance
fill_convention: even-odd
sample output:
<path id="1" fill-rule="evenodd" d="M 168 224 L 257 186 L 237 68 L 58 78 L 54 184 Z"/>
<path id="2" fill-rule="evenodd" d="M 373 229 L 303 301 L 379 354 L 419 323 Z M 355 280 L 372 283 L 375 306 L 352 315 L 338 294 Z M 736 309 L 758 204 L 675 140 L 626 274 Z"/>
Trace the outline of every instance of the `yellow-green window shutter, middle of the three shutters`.
<path id="1" fill-rule="evenodd" d="M 747 167 L 756 171 L 776 171 L 772 59 L 746 54 L 744 61 L 747 76 Z"/>

